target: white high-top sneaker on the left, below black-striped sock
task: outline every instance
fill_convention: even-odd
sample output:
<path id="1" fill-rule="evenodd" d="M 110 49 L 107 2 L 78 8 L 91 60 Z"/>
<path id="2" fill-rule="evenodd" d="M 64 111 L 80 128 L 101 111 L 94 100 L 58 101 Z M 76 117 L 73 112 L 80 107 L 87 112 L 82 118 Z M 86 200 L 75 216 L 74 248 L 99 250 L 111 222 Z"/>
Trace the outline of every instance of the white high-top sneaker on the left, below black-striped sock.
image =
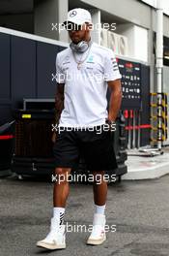
<path id="1" fill-rule="evenodd" d="M 65 225 L 59 225 L 56 218 L 51 218 L 50 232 L 44 240 L 37 242 L 37 246 L 49 250 L 66 248 L 65 228 Z"/>

